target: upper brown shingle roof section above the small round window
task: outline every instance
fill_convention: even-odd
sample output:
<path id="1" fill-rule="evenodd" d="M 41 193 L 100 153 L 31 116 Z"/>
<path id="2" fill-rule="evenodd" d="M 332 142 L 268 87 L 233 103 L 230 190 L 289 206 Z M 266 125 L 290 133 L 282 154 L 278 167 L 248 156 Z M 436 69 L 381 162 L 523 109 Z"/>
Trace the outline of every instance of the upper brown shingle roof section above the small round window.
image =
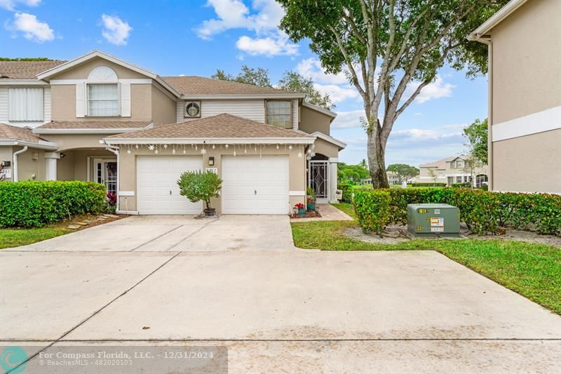
<path id="1" fill-rule="evenodd" d="M 294 91 L 222 81 L 220 79 L 205 78 L 203 76 L 163 76 L 162 78 L 182 95 L 297 94 Z"/>

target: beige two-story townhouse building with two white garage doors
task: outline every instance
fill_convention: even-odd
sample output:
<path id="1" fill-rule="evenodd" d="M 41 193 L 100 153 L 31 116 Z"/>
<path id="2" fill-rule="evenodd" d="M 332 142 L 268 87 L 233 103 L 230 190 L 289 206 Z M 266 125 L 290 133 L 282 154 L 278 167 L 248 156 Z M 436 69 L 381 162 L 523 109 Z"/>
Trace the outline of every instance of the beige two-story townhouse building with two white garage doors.
<path id="1" fill-rule="evenodd" d="M 177 179 L 224 180 L 221 213 L 285 214 L 335 201 L 336 114 L 304 94 L 199 76 L 159 76 L 93 51 L 75 60 L 0 62 L 0 161 L 8 180 L 93 180 L 118 211 L 200 213 Z"/>

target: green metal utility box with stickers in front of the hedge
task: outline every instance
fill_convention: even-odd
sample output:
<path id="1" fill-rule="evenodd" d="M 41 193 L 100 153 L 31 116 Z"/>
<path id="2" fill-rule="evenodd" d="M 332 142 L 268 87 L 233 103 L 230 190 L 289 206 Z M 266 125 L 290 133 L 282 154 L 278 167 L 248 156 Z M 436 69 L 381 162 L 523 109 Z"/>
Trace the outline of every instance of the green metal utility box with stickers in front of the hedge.
<path id="1" fill-rule="evenodd" d="M 417 237 L 459 236 L 460 210 L 448 204 L 407 204 L 407 231 Z"/>

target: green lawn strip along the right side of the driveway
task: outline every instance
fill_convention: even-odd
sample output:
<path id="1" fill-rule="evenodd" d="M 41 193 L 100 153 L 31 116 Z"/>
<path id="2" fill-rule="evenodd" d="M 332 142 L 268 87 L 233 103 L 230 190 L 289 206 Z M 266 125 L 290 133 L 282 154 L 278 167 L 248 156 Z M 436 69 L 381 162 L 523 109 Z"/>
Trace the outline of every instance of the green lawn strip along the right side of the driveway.
<path id="1" fill-rule="evenodd" d="M 351 204 L 334 204 L 356 218 Z M 398 244 L 366 243 L 347 238 L 346 228 L 356 221 L 292 223 L 292 236 L 299 248 L 324 251 L 434 250 L 475 270 L 520 295 L 561 314 L 561 248 L 499 239 L 416 239 Z"/>

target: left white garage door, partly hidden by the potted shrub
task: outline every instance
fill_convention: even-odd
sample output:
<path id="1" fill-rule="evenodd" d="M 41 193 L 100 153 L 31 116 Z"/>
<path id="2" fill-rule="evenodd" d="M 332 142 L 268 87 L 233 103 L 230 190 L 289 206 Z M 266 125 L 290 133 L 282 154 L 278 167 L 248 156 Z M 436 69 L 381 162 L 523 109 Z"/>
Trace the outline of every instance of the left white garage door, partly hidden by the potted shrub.
<path id="1" fill-rule="evenodd" d="M 138 156 L 137 203 L 139 214 L 198 214 L 203 203 L 180 195 L 177 180 L 184 171 L 202 170 L 199 156 Z"/>

